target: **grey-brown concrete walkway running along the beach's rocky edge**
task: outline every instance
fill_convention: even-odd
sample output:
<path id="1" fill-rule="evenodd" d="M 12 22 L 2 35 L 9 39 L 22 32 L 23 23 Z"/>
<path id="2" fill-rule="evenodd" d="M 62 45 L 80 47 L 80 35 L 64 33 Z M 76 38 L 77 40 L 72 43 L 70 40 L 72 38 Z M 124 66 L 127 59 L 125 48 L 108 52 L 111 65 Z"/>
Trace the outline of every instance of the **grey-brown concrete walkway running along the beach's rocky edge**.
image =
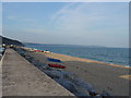
<path id="1" fill-rule="evenodd" d="M 2 96 L 73 96 L 12 49 L 2 61 Z"/>

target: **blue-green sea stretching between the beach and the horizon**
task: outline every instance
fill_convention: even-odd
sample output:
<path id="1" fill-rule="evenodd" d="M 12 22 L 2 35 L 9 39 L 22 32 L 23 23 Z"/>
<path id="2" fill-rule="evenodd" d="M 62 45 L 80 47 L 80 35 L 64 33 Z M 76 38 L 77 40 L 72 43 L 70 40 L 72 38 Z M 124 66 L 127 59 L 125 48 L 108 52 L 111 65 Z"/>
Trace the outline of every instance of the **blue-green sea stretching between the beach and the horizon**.
<path id="1" fill-rule="evenodd" d="M 129 64 L 129 48 L 109 48 L 95 46 L 79 46 L 79 45 L 48 45 L 48 44 L 27 44 L 25 47 L 48 50 L 56 53 L 84 58 L 105 63 L 131 66 Z"/>

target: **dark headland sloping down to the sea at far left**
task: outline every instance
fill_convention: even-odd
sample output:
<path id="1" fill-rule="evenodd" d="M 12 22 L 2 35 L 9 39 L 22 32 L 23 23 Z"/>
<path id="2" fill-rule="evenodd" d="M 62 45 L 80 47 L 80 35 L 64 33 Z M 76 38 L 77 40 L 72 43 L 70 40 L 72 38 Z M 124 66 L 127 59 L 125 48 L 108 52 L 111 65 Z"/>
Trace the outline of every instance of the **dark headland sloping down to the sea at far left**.
<path id="1" fill-rule="evenodd" d="M 24 46 L 21 41 L 0 36 L 0 40 L 5 45 Z"/>

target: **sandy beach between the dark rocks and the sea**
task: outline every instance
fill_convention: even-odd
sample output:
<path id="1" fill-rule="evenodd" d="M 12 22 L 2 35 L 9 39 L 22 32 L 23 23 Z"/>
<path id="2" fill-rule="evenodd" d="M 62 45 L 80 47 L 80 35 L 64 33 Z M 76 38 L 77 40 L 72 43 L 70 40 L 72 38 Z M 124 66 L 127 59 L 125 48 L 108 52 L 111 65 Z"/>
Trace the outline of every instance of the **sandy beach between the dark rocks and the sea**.
<path id="1" fill-rule="evenodd" d="M 111 96 L 129 96 L 129 69 L 117 64 L 107 64 L 99 61 L 81 59 L 59 53 L 28 52 L 29 56 L 44 63 L 56 63 L 47 61 L 55 58 L 63 61 L 62 69 L 75 73 L 87 84 L 92 84 L 97 93 L 107 90 Z"/>

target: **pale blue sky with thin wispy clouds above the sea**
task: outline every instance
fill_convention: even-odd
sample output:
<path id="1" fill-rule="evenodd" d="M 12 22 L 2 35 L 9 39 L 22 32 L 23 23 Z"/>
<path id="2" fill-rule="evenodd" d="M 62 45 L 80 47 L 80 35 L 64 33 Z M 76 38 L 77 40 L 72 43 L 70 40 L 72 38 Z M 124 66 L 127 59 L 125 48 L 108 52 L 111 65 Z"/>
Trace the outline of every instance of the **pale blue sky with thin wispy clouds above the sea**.
<path id="1" fill-rule="evenodd" d="M 23 42 L 129 47 L 128 2 L 3 2 L 2 35 Z"/>

